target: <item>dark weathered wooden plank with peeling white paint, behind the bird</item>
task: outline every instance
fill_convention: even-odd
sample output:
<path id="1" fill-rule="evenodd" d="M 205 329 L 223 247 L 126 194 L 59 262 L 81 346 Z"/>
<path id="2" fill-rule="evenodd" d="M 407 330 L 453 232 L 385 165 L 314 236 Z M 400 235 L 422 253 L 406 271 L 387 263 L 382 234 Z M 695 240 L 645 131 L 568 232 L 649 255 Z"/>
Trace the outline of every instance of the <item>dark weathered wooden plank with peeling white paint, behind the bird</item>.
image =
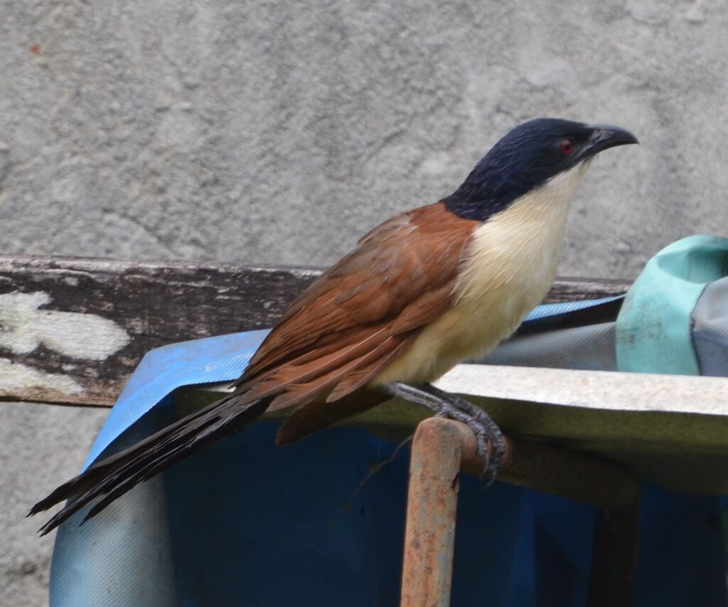
<path id="1" fill-rule="evenodd" d="M 0 399 L 111 405 L 146 351 L 271 326 L 319 274 L 0 256 Z M 560 279 L 547 301 L 606 297 L 628 286 Z"/>

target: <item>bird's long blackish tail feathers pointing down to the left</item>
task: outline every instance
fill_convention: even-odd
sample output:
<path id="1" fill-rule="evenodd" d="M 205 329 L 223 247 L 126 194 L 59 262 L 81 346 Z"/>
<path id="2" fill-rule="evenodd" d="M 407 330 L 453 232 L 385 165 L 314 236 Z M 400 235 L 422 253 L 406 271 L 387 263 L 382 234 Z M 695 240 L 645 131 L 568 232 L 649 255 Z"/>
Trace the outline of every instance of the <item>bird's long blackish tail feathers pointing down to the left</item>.
<path id="1" fill-rule="evenodd" d="M 90 501 L 101 497 L 84 517 L 86 522 L 138 482 L 154 477 L 215 439 L 250 423 L 265 412 L 269 403 L 270 399 L 245 402 L 245 394 L 231 394 L 213 402 L 136 445 L 93 464 L 39 501 L 28 516 L 74 498 L 39 529 L 44 536 Z"/>

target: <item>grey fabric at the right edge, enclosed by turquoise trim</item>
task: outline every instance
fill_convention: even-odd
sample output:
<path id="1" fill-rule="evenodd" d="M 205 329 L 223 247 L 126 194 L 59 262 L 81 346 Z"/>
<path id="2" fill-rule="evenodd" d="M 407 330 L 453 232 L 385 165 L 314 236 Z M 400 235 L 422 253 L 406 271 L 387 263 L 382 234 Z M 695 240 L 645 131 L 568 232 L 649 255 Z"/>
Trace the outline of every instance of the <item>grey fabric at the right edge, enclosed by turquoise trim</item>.
<path id="1" fill-rule="evenodd" d="M 728 376 L 728 278 L 705 287 L 691 320 L 700 375 Z"/>

